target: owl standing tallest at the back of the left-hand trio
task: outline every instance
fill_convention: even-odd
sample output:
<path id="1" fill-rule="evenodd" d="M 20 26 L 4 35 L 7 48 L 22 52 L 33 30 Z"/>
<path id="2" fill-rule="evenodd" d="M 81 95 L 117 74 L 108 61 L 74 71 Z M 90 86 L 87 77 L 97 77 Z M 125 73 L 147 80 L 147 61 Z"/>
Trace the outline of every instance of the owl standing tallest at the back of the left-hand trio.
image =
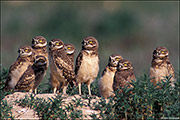
<path id="1" fill-rule="evenodd" d="M 48 60 L 48 52 L 47 52 L 47 41 L 46 38 L 43 36 L 35 36 L 32 38 L 32 48 L 35 52 L 35 56 L 42 55 L 46 57 L 47 60 L 47 66 L 46 70 L 49 66 L 49 60 Z"/>

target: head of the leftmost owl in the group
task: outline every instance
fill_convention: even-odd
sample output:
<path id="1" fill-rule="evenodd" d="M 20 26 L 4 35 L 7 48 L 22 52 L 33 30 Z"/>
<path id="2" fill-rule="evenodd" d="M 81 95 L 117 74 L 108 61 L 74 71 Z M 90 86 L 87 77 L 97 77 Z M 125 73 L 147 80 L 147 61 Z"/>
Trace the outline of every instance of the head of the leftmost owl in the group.
<path id="1" fill-rule="evenodd" d="M 18 53 L 20 57 L 27 57 L 33 54 L 33 49 L 29 45 L 22 45 L 18 49 Z"/>

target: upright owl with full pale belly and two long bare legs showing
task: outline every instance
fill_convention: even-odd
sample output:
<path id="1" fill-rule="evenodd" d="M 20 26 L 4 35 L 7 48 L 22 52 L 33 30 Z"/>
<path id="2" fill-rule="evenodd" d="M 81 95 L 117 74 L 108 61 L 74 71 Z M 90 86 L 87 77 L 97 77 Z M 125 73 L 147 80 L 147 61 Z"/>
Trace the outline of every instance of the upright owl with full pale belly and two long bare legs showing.
<path id="1" fill-rule="evenodd" d="M 98 41 L 94 37 L 86 37 L 82 42 L 82 49 L 76 59 L 75 74 L 76 82 L 81 95 L 81 84 L 86 83 L 89 95 L 91 95 L 90 85 L 95 80 L 99 72 Z"/>

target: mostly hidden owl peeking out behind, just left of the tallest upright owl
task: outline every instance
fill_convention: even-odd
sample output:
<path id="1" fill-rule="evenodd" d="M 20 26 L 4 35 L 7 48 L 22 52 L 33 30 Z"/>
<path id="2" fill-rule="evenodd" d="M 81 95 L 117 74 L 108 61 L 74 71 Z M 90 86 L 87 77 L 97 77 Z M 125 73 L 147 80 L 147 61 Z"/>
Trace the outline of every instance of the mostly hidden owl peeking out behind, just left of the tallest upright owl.
<path id="1" fill-rule="evenodd" d="M 64 44 L 65 53 L 71 61 L 74 63 L 74 53 L 75 53 L 75 47 L 73 44 Z"/>

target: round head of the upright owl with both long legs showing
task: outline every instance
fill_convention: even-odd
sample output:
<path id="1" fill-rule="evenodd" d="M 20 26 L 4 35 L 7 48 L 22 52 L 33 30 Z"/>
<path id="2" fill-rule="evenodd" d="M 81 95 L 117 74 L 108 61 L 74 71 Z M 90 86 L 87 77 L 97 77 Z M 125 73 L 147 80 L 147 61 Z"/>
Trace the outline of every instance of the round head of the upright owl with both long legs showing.
<path id="1" fill-rule="evenodd" d="M 82 47 L 85 50 L 97 50 L 99 47 L 98 41 L 92 36 L 88 36 L 83 39 Z"/>

